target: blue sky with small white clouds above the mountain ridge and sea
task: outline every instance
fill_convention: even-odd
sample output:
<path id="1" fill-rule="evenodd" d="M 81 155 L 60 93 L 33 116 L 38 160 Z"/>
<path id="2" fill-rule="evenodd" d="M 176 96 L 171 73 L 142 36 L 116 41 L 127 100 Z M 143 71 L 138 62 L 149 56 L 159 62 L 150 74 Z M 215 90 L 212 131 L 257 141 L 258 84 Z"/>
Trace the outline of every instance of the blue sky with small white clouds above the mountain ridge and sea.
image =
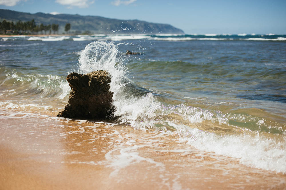
<path id="1" fill-rule="evenodd" d="M 286 34 L 286 0 L 0 0 L 0 9 L 138 19 L 188 34 Z"/>

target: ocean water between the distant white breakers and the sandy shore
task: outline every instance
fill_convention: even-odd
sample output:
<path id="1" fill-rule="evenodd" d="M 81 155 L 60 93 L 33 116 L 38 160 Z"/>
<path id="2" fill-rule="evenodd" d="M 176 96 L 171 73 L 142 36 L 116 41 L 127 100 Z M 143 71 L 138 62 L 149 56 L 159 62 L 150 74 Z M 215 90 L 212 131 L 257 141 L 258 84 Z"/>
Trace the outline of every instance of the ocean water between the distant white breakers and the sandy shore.
<path id="1" fill-rule="evenodd" d="M 112 77 L 118 125 L 286 173 L 284 42 L 27 41 L 0 47 L 1 118 L 56 115 L 68 99 L 67 73 L 102 69 Z"/>

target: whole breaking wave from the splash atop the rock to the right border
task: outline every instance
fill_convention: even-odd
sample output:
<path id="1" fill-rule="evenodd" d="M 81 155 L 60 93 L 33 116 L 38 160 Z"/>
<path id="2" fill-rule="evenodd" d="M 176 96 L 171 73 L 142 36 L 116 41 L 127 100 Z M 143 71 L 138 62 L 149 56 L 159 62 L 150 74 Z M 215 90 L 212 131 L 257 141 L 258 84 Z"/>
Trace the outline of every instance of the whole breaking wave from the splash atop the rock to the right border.
<path id="1" fill-rule="evenodd" d="M 118 44 L 95 41 L 86 45 L 81 52 L 78 65 L 79 73 L 95 70 L 110 73 L 110 91 L 113 92 L 113 105 L 116 108 L 114 115 L 120 116 L 122 123 L 128 123 L 135 129 L 167 131 L 178 135 L 181 142 L 200 150 L 235 157 L 251 167 L 286 172 L 286 152 L 283 148 L 286 145 L 283 136 L 285 126 L 277 127 L 280 127 L 279 133 L 282 135 L 265 136 L 260 134 L 259 129 L 267 122 L 261 122 L 256 116 L 222 114 L 217 109 L 206 110 L 183 103 L 170 105 L 160 101 L 146 89 L 136 95 L 136 88 L 140 87 L 126 77 L 128 68 L 123 63 L 124 58 L 118 56 Z M 128 85 L 132 88 L 128 89 Z M 251 118 L 249 121 L 243 120 L 242 125 L 239 123 L 241 117 Z M 235 123 L 238 123 L 237 126 Z M 244 127 L 246 125 L 259 127 L 249 130 Z M 265 128 L 267 127 L 265 124 Z"/>

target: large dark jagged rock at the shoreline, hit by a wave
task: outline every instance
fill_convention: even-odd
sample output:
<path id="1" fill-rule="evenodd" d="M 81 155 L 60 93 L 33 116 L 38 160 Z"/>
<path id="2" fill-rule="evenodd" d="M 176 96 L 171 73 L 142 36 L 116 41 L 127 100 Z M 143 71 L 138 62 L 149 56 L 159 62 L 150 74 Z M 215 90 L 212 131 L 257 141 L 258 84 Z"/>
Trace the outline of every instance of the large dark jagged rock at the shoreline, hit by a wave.
<path id="1" fill-rule="evenodd" d="M 114 119 L 113 94 L 109 91 L 111 77 L 107 71 L 93 71 L 85 75 L 71 73 L 67 75 L 67 81 L 72 91 L 68 104 L 58 117 L 100 121 Z"/>

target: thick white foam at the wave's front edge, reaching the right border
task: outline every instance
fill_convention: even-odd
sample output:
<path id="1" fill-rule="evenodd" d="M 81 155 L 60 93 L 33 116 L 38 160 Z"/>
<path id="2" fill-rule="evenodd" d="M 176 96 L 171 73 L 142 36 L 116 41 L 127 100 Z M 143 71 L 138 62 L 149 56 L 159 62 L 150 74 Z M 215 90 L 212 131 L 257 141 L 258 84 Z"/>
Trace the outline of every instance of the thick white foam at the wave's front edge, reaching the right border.
<path id="1" fill-rule="evenodd" d="M 180 130 L 185 130 L 185 126 L 169 123 Z M 186 132 L 185 132 L 186 133 Z M 279 143 L 273 140 L 256 135 L 216 135 L 200 131 L 196 128 L 187 129 L 189 137 L 182 137 L 181 141 L 204 151 L 215 152 L 239 159 L 247 166 L 267 169 L 276 172 L 286 173 L 286 150 L 285 139 Z"/>

